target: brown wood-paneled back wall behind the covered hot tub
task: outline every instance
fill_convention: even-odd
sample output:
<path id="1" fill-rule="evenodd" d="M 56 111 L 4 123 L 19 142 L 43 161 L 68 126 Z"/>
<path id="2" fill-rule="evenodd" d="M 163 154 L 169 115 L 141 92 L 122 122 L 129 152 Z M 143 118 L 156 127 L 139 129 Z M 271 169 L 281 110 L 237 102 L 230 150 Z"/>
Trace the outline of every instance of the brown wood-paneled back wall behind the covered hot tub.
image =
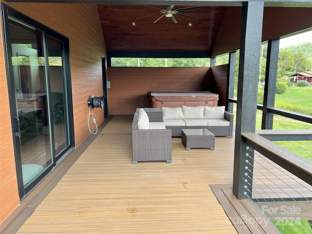
<path id="1" fill-rule="evenodd" d="M 133 115 L 138 107 L 151 107 L 149 91 L 206 91 L 209 70 L 209 67 L 108 67 L 109 113 Z"/>

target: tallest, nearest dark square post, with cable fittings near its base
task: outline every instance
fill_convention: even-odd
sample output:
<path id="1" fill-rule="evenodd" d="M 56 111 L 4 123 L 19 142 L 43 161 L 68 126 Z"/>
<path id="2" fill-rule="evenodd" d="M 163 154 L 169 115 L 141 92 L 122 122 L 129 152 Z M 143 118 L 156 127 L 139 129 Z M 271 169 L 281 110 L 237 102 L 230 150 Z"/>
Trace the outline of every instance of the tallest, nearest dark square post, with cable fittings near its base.
<path id="1" fill-rule="evenodd" d="M 241 134 L 255 132 L 263 10 L 263 1 L 242 6 L 233 177 L 233 194 L 238 199 L 252 195 L 254 150 Z"/>

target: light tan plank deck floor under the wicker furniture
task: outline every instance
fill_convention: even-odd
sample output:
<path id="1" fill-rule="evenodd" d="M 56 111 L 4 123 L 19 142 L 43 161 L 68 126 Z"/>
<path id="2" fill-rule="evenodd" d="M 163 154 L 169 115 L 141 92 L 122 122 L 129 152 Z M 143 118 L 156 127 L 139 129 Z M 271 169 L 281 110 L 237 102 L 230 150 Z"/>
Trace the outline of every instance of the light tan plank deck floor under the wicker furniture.
<path id="1" fill-rule="evenodd" d="M 234 138 L 172 163 L 132 164 L 131 116 L 115 116 L 21 226 L 18 234 L 236 233 L 209 185 L 232 184 Z"/>

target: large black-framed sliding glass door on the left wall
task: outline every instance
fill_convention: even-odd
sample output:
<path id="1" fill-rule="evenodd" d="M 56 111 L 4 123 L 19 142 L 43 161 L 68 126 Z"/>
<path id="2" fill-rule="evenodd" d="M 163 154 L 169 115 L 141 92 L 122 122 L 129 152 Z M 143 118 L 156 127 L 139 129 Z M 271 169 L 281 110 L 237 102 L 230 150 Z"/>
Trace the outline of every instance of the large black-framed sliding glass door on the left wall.
<path id="1" fill-rule="evenodd" d="M 3 7 L 3 6 L 2 6 Z M 74 145 L 68 39 L 10 8 L 6 68 L 20 198 Z M 12 15 L 10 15 L 10 13 Z"/>

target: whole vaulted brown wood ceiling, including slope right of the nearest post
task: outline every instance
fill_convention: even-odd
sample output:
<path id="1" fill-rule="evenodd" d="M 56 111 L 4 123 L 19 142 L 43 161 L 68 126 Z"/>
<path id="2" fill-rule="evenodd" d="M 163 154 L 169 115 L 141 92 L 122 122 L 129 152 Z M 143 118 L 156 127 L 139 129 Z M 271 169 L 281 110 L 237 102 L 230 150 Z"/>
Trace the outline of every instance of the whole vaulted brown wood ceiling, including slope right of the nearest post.
<path id="1" fill-rule="evenodd" d="M 166 2 L 170 4 L 169 2 L 175 1 Z M 312 5 L 292 7 L 292 4 L 294 3 L 289 3 L 288 7 L 265 7 L 262 41 L 282 38 L 299 30 L 311 30 L 312 17 L 308 16 L 312 15 Z M 98 4 L 107 51 L 184 51 L 205 52 L 209 56 L 217 56 L 239 49 L 241 3 L 224 5 L 222 2 L 215 2 L 211 6 L 181 10 L 184 11 L 182 14 L 198 20 L 176 14 L 174 17 L 177 23 L 170 17 L 157 20 L 163 15 L 160 9 L 169 6 Z M 173 9 L 190 6 L 192 5 L 175 5 Z M 133 22 L 136 23 L 135 26 L 132 25 Z M 188 23 L 193 26 L 189 27 Z"/>

